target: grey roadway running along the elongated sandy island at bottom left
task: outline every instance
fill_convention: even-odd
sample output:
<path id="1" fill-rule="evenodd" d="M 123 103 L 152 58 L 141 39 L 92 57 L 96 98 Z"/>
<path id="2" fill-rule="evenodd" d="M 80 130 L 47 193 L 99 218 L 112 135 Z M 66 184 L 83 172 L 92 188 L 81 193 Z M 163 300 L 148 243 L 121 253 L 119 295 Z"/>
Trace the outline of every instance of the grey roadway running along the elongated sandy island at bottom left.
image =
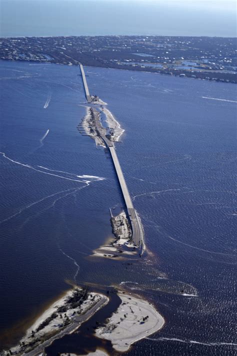
<path id="1" fill-rule="evenodd" d="M 66 334 L 72 333 L 75 329 L 77 329 L 82 322 L 86 321 L 88 318 L 90 318 L 98 309 L 102 307 L 102 305 L 106 302 L 107 298 L 105 296 L 102 296 L 102 298 L 97 301 L 90 309 L 88 309 L 84 314 L 82 315 L 75 315 L 73 317 L 73 322 L 66 326 L 63 330 L 58 332 L 56 335 L 52 336 L 48 340 L 42 342 L 39 346 L 37 346 L 34 350 L 29 351 L 27 353 L 22 353 L 24 356 L 37 356 L 40 353 L 44 352 L 45 347 L 49 346 L 52 341 L 54 341 L 57 338 L 61 338 L 62 336 Z"/>

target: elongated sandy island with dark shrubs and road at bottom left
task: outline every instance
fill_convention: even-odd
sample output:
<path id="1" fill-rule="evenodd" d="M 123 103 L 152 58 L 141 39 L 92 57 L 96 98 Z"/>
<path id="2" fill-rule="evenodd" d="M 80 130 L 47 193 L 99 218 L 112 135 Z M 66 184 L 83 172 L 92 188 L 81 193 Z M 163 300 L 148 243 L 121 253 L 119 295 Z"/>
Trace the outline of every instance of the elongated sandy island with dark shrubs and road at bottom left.
<path id="1" fill-rule="evenodd" d="M 93 313 L 108 302 L 108 298 L 102 294 L 88 292 L 87 289 L 73 288 L 63 297 L 51 304 L 27 329 L 17 346 L 11 347 L 10 354 L 25 354 L 30 350 L 41 350 L 47 340 L 50 344 L 54 339 L 66 333 L 73 332 L 85 321 L 89 310 Z M 97 306 L 97 309 L 96 309 Z M 45 345 L 46 346 L 48 346 Z M 9 351 L 3 351 L 7 355 Z M 40 353 L 40 352 L 39 352 Z"/>

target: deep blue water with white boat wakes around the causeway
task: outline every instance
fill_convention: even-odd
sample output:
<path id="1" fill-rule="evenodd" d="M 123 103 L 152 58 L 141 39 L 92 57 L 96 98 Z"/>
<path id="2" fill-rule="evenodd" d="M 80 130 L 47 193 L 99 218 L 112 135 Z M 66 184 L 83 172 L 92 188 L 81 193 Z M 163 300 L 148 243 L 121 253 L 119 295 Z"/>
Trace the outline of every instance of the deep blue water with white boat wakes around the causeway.
<path id="1" fill-rule="evenodd" d="M 129 267 L 89 256 L 111 236 L 108 208 L 123 201 L 108 153 L 76 129 L 79 69 L 0 62 L 2 347 L 70 280 L 120 284 L 155 304 L 164 327 L 127 355 L 234 354 L 236 87 L 85 72 L 125 129 L 116 151 L 147 253 Z M 76 353 L 78 338 L 47 354 Z"/>

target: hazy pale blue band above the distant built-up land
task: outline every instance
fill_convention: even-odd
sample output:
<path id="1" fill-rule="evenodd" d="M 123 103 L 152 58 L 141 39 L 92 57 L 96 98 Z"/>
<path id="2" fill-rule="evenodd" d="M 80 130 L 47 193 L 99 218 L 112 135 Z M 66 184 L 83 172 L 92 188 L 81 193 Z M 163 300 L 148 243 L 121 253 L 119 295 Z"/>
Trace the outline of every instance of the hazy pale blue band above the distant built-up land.
<path id="1" fill-rule="evenodd" d="M 236 37 L 233 0 L 0 0 L 0 36 Z"/>

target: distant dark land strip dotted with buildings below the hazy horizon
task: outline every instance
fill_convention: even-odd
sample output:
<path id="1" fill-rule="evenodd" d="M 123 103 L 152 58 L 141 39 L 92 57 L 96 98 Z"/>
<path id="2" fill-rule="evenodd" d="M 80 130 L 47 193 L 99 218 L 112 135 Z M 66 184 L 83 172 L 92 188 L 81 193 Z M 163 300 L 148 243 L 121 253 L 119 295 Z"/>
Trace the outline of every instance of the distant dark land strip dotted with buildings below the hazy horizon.
<path id="1" fill-rule="evenodd" d="M 0 38 L 0 59 L 128 69 L 237 83 L 236 38 L 69 36 Z"/>

